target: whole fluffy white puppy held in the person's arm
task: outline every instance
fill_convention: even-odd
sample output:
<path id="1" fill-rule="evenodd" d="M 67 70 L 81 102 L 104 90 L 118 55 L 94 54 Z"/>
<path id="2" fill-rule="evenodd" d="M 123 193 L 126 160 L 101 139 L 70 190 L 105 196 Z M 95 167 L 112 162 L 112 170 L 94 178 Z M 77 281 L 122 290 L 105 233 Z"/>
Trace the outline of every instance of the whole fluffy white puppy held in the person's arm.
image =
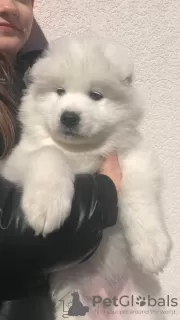
<path id="1" fill-rule="evenodd" d="M 48 48 L 31 77 L 20 106 L 21 141 L 3 174 L 23 187 L 22 208 L 34 230 L 46 235 L 63 225 L 75 174 L 96 172 L 102 156 L 116 151 L 123 176 L 117 225 L 104 232 L 89 260 L 54 278 L 56 302 L 63 295 L 59 288 L 88 288 L 90 275 L 99 275 L 104 286 L 118 281 L 126 244 L 144 271 L 162 270 L 171 242 L 161 214 L 158 168 L 138 129 L 142 111 L 126 51 L 104 39 L 64 38 Z"/>

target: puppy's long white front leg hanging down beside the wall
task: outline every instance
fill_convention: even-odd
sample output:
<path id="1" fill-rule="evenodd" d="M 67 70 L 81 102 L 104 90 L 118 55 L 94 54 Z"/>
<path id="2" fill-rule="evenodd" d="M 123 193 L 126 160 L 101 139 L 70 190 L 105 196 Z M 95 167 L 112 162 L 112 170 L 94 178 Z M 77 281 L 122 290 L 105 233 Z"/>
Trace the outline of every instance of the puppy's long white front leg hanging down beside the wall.
<path id="1" fill-rule="evenodd" d="M 160 207 L 160 184 L 152 153 L 144 146 L 130 152 L 122 168 L 121 219 L 132 257 L 144 271 L 158 273 L 171 249 Z"/>

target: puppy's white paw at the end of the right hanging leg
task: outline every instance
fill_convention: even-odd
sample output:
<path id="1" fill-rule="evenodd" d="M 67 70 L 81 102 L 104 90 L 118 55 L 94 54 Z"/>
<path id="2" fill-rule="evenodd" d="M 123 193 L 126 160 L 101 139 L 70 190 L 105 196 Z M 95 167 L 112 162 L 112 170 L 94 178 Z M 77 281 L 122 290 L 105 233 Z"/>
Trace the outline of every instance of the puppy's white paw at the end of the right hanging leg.
<path id="1" fill-rule="evenodd" d="M 169 236 L 159 230 L 145 234 L 142 242 L 134 243 L 131 253 L 144 272 L 158 274 L 168 263 L 171 248 Z"/>

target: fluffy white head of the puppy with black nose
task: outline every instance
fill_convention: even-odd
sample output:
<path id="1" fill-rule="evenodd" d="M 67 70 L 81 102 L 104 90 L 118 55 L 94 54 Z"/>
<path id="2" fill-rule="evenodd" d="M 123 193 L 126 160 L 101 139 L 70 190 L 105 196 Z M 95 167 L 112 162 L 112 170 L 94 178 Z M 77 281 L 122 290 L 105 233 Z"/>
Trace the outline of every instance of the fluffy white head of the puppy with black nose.
<path id="1" fill-rule="evenodd" d="M 124 49 L 104 39 L 58 40 L 31 77 L 33 111 L 59 142 L 97 142 L 140 118 L 133 66 Z"/>

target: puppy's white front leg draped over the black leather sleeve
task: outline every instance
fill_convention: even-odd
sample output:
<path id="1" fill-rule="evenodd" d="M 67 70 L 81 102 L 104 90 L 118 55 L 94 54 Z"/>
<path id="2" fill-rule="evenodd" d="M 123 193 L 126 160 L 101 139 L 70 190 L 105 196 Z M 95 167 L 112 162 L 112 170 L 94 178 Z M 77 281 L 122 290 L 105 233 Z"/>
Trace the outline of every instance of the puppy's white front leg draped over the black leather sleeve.
<path id="1" fill-rule="evenodd" d="M 46 235 L 64 223 L 71 210 L 73 180 L 58 149 L 44 147 L 29 156 L 22 209 L 37 234 Z"/>

